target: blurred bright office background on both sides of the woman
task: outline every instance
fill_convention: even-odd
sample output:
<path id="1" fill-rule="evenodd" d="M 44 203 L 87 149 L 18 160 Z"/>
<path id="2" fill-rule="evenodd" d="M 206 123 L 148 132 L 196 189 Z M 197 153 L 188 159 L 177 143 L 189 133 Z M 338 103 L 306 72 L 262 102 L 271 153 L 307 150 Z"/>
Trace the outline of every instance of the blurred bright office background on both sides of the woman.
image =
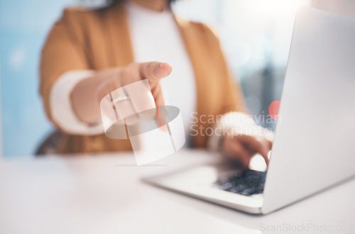
<path id="1" fill-rule="evenodd" d="M 0 0 L 2 154 L 33 155 L 53 130 L 38 94 L 38 62 L 45 36 L 65 6 L 99 6 L 102 0 Z M 355 18 L 354 0 L 185 0 L 173 10 L 202 21 L 219 35 L 226 58 L 242 84 L 253 116 L 274 128 L 268 106 L 280 100 L 295 13 L 315 6 Z M 1 149 L 1 147 L 0 147 Z"/>

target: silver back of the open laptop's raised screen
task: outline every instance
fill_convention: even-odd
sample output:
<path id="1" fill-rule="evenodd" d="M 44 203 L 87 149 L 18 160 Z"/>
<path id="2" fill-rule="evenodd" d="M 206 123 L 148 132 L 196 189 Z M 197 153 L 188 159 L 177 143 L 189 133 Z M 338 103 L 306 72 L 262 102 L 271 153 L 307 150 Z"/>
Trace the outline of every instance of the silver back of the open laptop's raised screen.
<path id="1" fill-rule="evenodd" d="M 355 174 L 355 21 L 298 11 L 264 190 L 269 213 Z"/>

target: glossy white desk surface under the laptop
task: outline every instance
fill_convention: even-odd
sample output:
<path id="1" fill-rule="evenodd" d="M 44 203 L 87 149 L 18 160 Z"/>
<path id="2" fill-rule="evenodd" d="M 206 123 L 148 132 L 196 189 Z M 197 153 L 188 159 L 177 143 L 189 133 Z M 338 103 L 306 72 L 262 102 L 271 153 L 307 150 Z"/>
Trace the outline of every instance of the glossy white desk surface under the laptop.
<path id="1" fill-rule="evenodd" d="M 187 150 L 142 167 L 130 153 L 3 159 L 0 233 L 355 233 L 354 179 L 267 216 L 140 180 L 209 160 L 213 155 Z"/>

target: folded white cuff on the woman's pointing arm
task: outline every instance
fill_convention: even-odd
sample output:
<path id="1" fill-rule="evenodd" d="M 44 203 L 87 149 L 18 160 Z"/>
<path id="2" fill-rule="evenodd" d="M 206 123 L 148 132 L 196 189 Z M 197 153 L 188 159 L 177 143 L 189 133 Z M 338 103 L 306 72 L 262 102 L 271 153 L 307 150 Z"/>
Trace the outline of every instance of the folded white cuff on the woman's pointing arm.
<path id="1" fill-rule="evenodd" d="M 50 113 L 58 127 L 72 135 L 99 135 L 104 133 L 102 123 L 88 125 L 80 121 L 72 110 L 70 94 L 83 79 L 92 77 L 92 70 L 71 70 L 62 74 L 50 91 Z"/>

